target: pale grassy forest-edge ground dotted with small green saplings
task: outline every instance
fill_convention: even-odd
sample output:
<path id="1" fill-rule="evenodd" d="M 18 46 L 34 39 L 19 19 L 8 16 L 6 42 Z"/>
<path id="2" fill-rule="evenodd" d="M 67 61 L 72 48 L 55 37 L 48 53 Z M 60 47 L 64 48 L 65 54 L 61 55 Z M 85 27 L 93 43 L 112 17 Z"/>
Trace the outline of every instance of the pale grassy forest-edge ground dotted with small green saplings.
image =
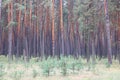
<path id="1" fill-rule="evenodd" d="M 114 60 L 110 66 L 107 59 L 92 60 L 87 63 L 85 59 L 75 60 L 72 57 L 48 58 L 37 61 L 32 58 L 30 62 L 14 59 L 11 63 L 4 56 L 0 57 L 0 80 L 119 80 L 120 65 Z"/>

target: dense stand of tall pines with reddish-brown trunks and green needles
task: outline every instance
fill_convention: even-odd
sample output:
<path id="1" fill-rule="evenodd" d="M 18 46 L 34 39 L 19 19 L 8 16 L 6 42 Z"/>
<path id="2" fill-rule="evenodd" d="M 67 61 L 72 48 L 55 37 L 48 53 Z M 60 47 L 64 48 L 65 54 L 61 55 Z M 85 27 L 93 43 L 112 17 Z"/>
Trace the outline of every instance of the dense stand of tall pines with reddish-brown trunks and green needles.
<path id="1" fill-rule="evenodd" d="M 120 61 L 120 0 L 0 0 L 0 55 Z"/>

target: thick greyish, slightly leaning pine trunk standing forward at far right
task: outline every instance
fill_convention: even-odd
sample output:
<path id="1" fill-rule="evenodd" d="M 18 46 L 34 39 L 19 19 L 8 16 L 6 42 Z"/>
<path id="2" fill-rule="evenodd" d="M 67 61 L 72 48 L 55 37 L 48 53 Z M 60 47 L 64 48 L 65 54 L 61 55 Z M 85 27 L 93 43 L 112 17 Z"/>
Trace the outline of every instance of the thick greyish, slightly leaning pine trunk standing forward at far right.
<path id="1" fill-rule="evenodd" d="M 105 11 L 105 20 L 106 20 L 106 35 L 107 35 L 107 47 L 108 47 L 108 62 L 112 64 L 112 47 L 111 47 L 111 38 L 110 38 L 110 19 L 108 13 L 108 0 L 104 0 L 104 11 Z"/>

